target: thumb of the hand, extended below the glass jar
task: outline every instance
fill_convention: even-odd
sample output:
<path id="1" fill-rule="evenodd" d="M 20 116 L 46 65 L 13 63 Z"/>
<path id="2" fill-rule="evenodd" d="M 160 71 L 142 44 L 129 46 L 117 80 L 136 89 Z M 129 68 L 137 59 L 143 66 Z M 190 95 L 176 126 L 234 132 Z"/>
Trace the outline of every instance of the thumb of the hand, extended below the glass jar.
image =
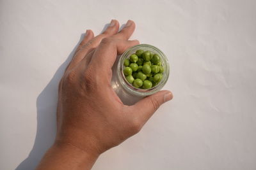
<path id="1" fill-rule="evenodd" d="M 168 90 L 162 90 L 151 96 L 141 99 L 138 103 L 132 106 L 133 110 L 136 110 L 136 117 L 143 124 L 155 113 L 155 111 L 166 101 L 170 101 L 173 98 L 172 92 Z"/>

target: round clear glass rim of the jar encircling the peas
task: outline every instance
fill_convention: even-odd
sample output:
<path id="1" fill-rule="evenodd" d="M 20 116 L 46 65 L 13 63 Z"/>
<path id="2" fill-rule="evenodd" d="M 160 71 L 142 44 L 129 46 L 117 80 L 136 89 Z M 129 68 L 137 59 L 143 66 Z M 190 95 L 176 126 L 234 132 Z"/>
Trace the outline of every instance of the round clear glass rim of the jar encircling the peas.
<path id="1" fill-rule="evenodd" d="M 139 89 L 139 88 L 133 87 L 131 85 L 131 83 L 129 83 L 126 80 L 124 72 L 123 72 L 124 59 L 129 57 L 132 53 L 135 53 L 136 50 L 140 50 L 141 48 L 144 48 L 142 50 L 149 50 L 150 52 L 157 53 L 159 55 L 159 57 L 161 58 L 162 65 L 164 67 L 163 78 L 155 87 L 152 87 L 150 89 Z M 130 48 L 125 50 L 125 52 L 120 56 L 120 59 L 118 60 L 116 71 L 117 71 L 117 75 L 118 75 L 118 80 L 120 81 L 120 83 L 122 84 L 122 86 L 124 87 L 124 89 L 127 92 L 129 92 L 130 94 L 132 94 L 134 96 L 149 96 L 149 95 L 152 95 L 152 94 L 158 92 L 159 90 L 161 90 L 163 88 L 163 86 L 166 84 L 166 81 L 168 80 L 169 72 L 170 72 L 169 67 L 170 66 L 169 66 L 168 59 L 167 59 L 166 55 L 161 50 L 159 50 L 159 48 L 157 48 L 156 46 L 153 46 L 153 45 L 140 44 L 140 45 L 131 46 Z"/>

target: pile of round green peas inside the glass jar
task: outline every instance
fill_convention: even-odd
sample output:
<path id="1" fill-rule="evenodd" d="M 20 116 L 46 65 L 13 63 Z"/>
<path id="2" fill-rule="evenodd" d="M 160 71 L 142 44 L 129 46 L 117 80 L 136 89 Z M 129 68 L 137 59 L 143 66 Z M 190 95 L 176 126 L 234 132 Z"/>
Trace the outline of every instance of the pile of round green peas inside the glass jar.
<path id="1" fill-rule="evenodd" d="M 164 68 L 157 53 L 137 50 L 124 60 L 124 75 L 133 87 L 150 89 L 163 78 Z"/>

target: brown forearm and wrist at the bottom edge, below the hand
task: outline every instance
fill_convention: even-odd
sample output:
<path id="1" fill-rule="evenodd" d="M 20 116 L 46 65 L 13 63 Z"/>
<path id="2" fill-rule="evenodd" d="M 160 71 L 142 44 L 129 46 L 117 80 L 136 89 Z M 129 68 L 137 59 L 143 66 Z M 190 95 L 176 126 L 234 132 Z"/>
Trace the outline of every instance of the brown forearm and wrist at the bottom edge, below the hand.
<path id="1" fill-rule="evenodd" d="M 92 169 L 99 155 L 87 153 L 76 146 L 55 143 L 45 153 L 36 170 L 40 169 Z"/>

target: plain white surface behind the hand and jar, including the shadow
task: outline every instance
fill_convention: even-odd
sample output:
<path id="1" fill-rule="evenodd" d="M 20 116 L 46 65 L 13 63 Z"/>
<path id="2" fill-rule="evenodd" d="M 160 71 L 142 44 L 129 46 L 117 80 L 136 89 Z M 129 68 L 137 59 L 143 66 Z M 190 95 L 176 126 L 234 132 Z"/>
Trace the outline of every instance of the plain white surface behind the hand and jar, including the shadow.
<path id="1" fill-rule="evenodd" d="M 256 169 L 255 2 L 1 0 L 0 169 L 33 169 L 51 146 L 63 69 L 111 18 L 166 53 L 175 97 L 93 170 Z"/>

